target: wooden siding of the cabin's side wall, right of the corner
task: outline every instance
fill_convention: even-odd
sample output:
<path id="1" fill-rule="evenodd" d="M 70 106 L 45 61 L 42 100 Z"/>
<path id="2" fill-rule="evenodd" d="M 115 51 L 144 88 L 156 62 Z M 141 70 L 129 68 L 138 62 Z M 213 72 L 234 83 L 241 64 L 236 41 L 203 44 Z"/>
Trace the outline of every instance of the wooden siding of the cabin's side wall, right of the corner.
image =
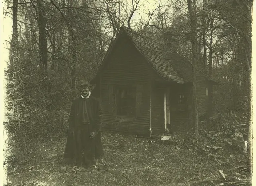
<path id="1" fill-rule="evenodd" d="M 154 77 L 154 76 L 153 76 Z M 199 117 L 207 113 L 208 96 L 206 95 L 207 80 L 203 75 L 197 73 L 196 77 L 197 109 Z M 162 82 L 162 84 L 159 84 Z M 156 79 L 152 93 L 152 134 L 164 132 L 164 91 L 170 88 L 170 124 L 178 130 L 190 130 L 193 128 L 192 112 L 192 84 L 163 84 Z M 184 93 L 186 98 L 186 109 L 176 110 L 173 101 L 177 101 L 177 94 Z"/>

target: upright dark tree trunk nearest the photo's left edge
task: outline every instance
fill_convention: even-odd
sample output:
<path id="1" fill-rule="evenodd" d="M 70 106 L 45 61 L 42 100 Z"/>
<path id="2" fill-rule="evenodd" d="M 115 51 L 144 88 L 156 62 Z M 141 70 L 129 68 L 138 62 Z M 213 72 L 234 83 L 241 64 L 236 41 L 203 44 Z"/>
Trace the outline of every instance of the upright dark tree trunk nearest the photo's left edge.
<path id="1" fill-rule="evenodd" d="M 18 50 L 18 0 L 13 0 L 12 9 L 12 40 L 10 44 L 10 65 L 15 64 L 14 58 L 17 57 Z"/>

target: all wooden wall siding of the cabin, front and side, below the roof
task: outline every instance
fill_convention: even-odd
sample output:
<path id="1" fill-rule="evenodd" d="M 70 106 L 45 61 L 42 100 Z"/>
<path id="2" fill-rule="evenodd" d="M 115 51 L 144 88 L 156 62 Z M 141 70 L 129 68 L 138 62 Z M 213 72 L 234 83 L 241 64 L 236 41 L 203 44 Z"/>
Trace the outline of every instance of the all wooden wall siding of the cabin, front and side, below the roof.
<path id="1" fill-rule="evenodd" d="M 152 135 L 164 130 L 164 92 L 170 88 L 170 123 L 176 128 L 193 126 L 191 83 L 165 82 L 152 70 L 143 56 L 126 35 L 120 35 L 100 76 L 100 100 L 103 111 L 103 130 L 133 134 L 150 134 L 150 95 Z M 154 83 L 151 80 L 154 80 Z M 134 117 L 113 114 L 113 88 L 116 85 L 132 85 L 136 88 L 136 115 Z M 206 80 L 197 73 L 197 106 L 199 117 L 207 111 Z M 173 93 L 183 92 L 187 97 L 187 110 L 173 111 Z M 152 94 L 151 94 L 152 93 Z"/>

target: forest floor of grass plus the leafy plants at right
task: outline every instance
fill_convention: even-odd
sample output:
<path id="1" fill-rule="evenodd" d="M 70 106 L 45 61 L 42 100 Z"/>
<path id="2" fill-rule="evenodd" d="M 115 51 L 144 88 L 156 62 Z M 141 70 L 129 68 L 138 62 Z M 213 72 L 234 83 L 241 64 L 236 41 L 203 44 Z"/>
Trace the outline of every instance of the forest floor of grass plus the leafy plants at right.
<path id="1" fill-rule="evenodd" d="M 8 157 L 7 175 L 15 186 L 249 186 L 249 154 L 237 142 L 248 140 L 248 117 L 232 114 L 226 118 L 221 130 L 201 129 L 199 140 L 185 131 L 172 135 L 169 140 L 176 145 L 103 132 L 105 155 L 91 170 L 63 159 L 66 138 L 43 141 L 34 150 L 15 151 Z"/>

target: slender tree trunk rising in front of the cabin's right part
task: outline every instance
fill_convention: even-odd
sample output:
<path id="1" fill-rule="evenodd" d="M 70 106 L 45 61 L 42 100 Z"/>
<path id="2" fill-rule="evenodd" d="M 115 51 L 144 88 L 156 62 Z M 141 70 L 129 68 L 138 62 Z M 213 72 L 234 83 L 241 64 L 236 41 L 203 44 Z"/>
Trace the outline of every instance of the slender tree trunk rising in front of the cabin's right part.
<path id="1" fill-rule="evenodd" d="M 188 3 L 188 11 L 191 20 L 191 44 L 192 44 L 192 53 L 193 53 L 193 63 L 192 63 L 192 77 L 193 77 L 193 85 L 192 85 L 192 94 L 193 94 L 193 122 L 194 122 L 194 132 L 195 137 L 199 139 L 198 132 L 198 111 L 197 111 L 197 97 L 196 97 L 196 68 L 197 68 L 197 45 L 196 45 L 196 9 L 193 6 L 191 0 L 187 0 Z"/>

